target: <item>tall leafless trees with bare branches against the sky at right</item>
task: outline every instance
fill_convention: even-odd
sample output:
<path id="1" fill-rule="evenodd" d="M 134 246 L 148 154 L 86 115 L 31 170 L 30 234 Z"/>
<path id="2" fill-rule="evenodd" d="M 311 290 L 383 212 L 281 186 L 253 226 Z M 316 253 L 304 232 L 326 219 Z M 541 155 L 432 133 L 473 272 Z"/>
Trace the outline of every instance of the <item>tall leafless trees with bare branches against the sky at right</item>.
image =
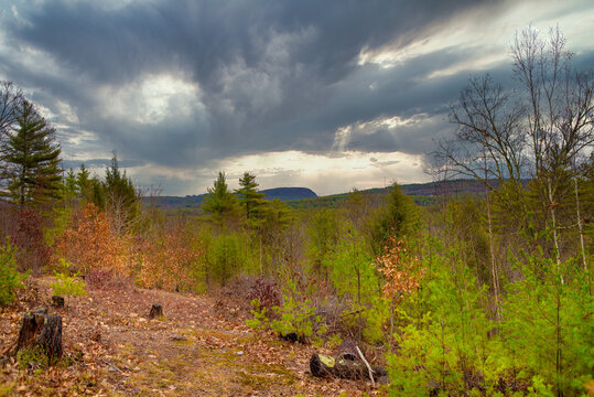
<path id="1" fill-rule="evenodd" d="M 547 40 L 532 26 L 517 33 L 511 54 L 518 88 L 504 89 L 489 75 L 471 77 L 451 107 L 450 120 L 457 131 L 435 153 L 458 174 L 482 181 L 488 206 L 495 182 L 511 186 L 506 192 L 512 197 L 503 204 L 519 205 L 518 227 L 523 229 L 531 221 L 522 180 L 532 180 L 546 208 L 542 216 L 551 225 L 559 262 L 555 208 L 571 200 L 571 179 L 594 143 L 594 75 L 573 69 L 572 54 L 565 51 L 558 28 L 551 29 Z"/>

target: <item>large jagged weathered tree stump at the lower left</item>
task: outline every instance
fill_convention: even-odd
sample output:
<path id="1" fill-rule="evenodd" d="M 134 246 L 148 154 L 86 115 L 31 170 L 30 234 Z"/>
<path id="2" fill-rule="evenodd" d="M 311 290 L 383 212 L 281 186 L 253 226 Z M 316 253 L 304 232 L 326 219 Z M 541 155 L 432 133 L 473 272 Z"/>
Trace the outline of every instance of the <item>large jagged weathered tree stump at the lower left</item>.
<path id="1" fill-rule="evenodd" d="M 62 357 L 62 316 L 47 315 L 46 308 L 24 313 L 14 354 L 36 346 L 47 356 L 50 365 Z"/>

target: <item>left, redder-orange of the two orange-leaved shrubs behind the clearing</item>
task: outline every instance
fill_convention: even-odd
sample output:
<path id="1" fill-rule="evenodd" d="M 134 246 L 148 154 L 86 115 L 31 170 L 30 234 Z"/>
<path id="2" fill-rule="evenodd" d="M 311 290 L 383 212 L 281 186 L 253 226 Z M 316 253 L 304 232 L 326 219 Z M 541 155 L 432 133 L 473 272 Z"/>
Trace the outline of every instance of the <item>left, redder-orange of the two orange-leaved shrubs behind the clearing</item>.
<path id="1" fill-rule="evenodd" d="M 55 253 L 87 275 L 91 269 L 109 269 L 129 276 L 128 244 L 111 233 L 105 213 L 94 204 L 78 210 L 55 240 Z"/>

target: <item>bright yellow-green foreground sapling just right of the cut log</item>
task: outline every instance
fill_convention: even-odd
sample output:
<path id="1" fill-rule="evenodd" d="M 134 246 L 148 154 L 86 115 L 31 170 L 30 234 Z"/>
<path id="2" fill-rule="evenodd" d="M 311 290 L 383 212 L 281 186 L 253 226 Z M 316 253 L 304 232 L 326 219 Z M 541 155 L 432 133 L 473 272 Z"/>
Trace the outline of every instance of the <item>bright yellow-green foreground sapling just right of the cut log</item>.
<path id="1" fill-rule="evenodd" d="M 486 288 L 477 286 L 455 249 L 447 254 L 423 288 L 402 294 L 396 309 L 398 350 L 387 356 L 392 396 L 423 396 L 434 388 L 490 395 L 508 366 L 482 304 Z"/>

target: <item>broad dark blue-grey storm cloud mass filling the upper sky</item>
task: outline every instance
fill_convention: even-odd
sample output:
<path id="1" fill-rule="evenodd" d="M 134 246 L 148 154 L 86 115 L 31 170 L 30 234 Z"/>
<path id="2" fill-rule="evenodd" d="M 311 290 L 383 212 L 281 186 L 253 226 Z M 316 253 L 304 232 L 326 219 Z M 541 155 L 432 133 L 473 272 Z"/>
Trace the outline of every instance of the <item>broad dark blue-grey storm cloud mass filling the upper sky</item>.
<path id="1" fill-rule="evenodd" d="M 54 114 L 61 112 L 56 99 L 72 104 L 78 119 L 73 128 L 95 132 L 123 157 L 174 167 L 245 152 L 324 151 L 341 126 L 442 111 L 460 79 L 420 82 L 464 54 L 441 51 L 387 69 L 357 65 L 358 55 L 389 43 L 403 46 L 428 26 L 480 7 L 474 0 L 108 6 L 19 3 L 19 18 L 3 18 L 9 41 L 15 51 L 42 51 L 57 71 L 40 73 L 2 54 L 3 72 L 35 89 Z M 191 112 L 180 117 L 172 108 L 162 119 L 139 122 L 114 115 L 109 94 L 97 96 L 159 74 L 199 87 L 199 95 L 186 98 Z M 133 104 L 125 105 L 134 111 Z M 422 142 L 371 139 L 353 147 L 419 152 Z"/>

